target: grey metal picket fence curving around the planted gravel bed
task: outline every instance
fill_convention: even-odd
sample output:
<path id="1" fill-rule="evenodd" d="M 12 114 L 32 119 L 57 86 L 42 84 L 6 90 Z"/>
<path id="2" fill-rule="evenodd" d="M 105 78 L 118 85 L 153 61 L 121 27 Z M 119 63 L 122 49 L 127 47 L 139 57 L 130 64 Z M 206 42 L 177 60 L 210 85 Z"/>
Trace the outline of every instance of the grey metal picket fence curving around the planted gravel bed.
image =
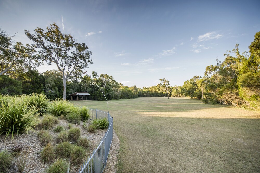
<path id="1" fill-rule="evenodd" d="M 105 136 L 79 169 L 79 173 L 102 173 L 107 163 L 107 157 L 113 138 L 113 117 L 110 116 L 109 112 L 103 112 L 97 109 L 89 109 L 89 113 L 90 119 L 92 120 L 107 118 L 109 127 Z"/>

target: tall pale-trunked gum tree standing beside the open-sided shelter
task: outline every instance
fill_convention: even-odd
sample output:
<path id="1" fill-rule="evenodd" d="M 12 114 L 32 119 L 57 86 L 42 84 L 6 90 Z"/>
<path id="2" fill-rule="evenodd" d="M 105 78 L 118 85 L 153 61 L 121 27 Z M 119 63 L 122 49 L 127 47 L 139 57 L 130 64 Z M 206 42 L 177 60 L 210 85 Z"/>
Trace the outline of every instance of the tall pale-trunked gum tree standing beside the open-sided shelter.
<path id="1" fill-rule="evenodd" d="M 25 34 L 38 48 L 38 53 L 48 65 L 54 63 L 62 73 L 63 79 L 63 99 L 66 100 L 66 81 L 76 74 L 77 70 L 88 68 L 88 64 L 93 64 L 85 43 L 76 43 L 70 34 L 62 34 L 60 28 L 55 24 L 43 29 L 34 30 L 35 35 L 25 30 Z"/>

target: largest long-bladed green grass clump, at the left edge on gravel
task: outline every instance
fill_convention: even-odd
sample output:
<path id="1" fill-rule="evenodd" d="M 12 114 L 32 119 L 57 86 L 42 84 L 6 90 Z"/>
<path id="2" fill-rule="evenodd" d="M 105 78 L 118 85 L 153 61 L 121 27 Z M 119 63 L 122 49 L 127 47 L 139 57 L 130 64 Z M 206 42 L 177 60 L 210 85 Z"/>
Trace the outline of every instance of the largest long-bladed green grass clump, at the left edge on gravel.
<path id="1" fill-rule="evenodd" d="M 12 98 L 9 102 L 1 102 L 0 107 L 0 135 L 5 133 L 6 138 L 9 134 L 28 133 L 34 130 L 38 124 L 38 117 L 35 108 L 30 108 L 20 99 Z"/>

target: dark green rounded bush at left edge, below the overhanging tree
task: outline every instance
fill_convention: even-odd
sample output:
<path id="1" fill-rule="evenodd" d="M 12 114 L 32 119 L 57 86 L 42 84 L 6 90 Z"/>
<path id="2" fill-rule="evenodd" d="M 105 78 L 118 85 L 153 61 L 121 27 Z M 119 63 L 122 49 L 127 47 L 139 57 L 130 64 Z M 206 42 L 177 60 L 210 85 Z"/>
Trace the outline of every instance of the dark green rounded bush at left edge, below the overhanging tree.
<path id="1" fill-rule="evenodd" d="M 20 95 L 22 94 L 22 82 L 6 75 L 0 75 L 0 93 L 3 95 Z"/>

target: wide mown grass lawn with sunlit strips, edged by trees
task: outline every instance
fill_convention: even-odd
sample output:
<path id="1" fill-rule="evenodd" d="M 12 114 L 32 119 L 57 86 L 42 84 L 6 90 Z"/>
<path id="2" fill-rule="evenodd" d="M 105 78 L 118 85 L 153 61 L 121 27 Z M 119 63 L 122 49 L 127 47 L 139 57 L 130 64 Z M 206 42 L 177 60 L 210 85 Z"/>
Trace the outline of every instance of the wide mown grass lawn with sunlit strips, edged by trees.
<path id="1" fill-rule="evenodd" d="M 74 101 L 107 111 L 106 101 Z M 185 97 L 108 102 L 118 172 L 260 172 L 260 113 Z"/>

